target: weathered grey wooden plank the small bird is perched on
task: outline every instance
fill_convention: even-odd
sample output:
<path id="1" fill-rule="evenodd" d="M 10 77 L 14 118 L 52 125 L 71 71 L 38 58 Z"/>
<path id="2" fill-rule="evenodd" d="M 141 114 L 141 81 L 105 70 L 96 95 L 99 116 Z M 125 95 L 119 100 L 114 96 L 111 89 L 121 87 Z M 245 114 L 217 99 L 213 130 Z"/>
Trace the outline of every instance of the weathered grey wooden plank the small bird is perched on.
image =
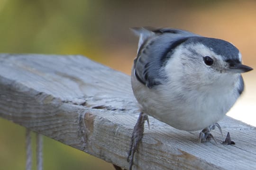
<path id="1" fill-rule="evenodd" d="M 0 55 L 0 116 L 105 161 L 128 168 L 138 116 L 128 75 L 82 56 Z M 152 117 L 136 169 L 224 170 L 256 167 L 256 127 L 226 117 L 225 136 L 198 144 L 198 132 L 174 129 Z"/>

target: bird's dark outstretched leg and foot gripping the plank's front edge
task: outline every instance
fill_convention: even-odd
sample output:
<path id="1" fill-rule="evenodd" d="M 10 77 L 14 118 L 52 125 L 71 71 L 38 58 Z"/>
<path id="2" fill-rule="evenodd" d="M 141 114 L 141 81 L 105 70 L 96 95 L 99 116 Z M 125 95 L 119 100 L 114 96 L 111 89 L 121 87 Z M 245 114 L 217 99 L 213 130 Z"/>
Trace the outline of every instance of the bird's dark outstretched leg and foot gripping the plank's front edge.
<path id="1" fill-rule="evenodd" d="M 128 151 L 127 161 L 129 162 L 129 170 L 132 169 L 134 153 L 137 151 L 138 145 L 143 136 L 145 120 L 147 121 L 147 125 L 149 128 L 148 116 L 145 113 L 140 112 L 137 123 L 133 128 L 131 143 Z"/>

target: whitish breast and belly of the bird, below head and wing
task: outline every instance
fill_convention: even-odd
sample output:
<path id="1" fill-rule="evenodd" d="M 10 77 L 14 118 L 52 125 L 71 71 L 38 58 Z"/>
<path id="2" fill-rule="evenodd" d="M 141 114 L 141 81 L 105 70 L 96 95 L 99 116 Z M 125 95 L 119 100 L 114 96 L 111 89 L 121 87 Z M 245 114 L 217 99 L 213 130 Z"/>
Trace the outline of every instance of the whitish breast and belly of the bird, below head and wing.
<path id="1" fill-rule="evenodd" d="M 186 91 L 183 86 L 175 83 L 149 89 L 138 82 L 134 74 L 131 75 L 135 97 L 146 114 L 186 131 L 201 130 L 217 123 L 239 96 L 235 92 L 237 84 L 234 83 L 233 86 L 221 86 L 215 90 L 209 87 L 199 93 L 198 89 Z M 237 80 L 232 78 L 232 81 Z"/>

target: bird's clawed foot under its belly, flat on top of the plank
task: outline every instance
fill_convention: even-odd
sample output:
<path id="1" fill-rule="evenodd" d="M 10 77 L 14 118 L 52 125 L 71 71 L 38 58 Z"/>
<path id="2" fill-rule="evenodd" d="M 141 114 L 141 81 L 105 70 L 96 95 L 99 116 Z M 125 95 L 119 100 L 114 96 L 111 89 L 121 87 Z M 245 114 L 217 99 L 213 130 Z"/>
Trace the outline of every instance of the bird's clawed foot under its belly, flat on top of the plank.
<path id="1" fill-rule="evenodd" d="M 201 143 L 201 142 L 207 142 L 207 141 L 210 141 L 211 139 L 213 139 L 215 142 L 215 138 L 212 136 L 212 134 L 210 133 L 211 130 L 215 129 L 215 127 L 218 127 L 219 128 L 219 131 L 221 133 L 221 136 L 222 135 L 222 130 L 221 130 L 221 127 L 219 126 L 219 123 L 215 123 L 213 125 L 210 125 L 209 127 L 206 127 L 204 129 L 202 129 L 202 131 L 200 132 L 199 134 L 199 139 L 198 139 L 198 142 Z M 217 143 L 217 142 L 216 142 Z"/>

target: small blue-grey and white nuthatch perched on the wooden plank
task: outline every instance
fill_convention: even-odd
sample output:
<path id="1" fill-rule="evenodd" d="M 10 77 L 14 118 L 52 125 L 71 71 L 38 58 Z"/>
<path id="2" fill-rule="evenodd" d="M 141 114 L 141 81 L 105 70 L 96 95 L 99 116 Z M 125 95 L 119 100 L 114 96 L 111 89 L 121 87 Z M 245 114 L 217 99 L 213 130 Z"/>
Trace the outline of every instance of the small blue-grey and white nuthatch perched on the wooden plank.
<path id="1" fill-rule="evenodd" d="M 210 131 L 244 90 L 238 48 L 225 40 L 174 28 L 136 27 L 137 57 L 131 85 L 140 106 L 128 150 L 129 170 L 148 115 L 185 131 L 201 130 L 199 143 L 214 139 Z M 214 139 L 215 140 L 215 139 Z"/>

